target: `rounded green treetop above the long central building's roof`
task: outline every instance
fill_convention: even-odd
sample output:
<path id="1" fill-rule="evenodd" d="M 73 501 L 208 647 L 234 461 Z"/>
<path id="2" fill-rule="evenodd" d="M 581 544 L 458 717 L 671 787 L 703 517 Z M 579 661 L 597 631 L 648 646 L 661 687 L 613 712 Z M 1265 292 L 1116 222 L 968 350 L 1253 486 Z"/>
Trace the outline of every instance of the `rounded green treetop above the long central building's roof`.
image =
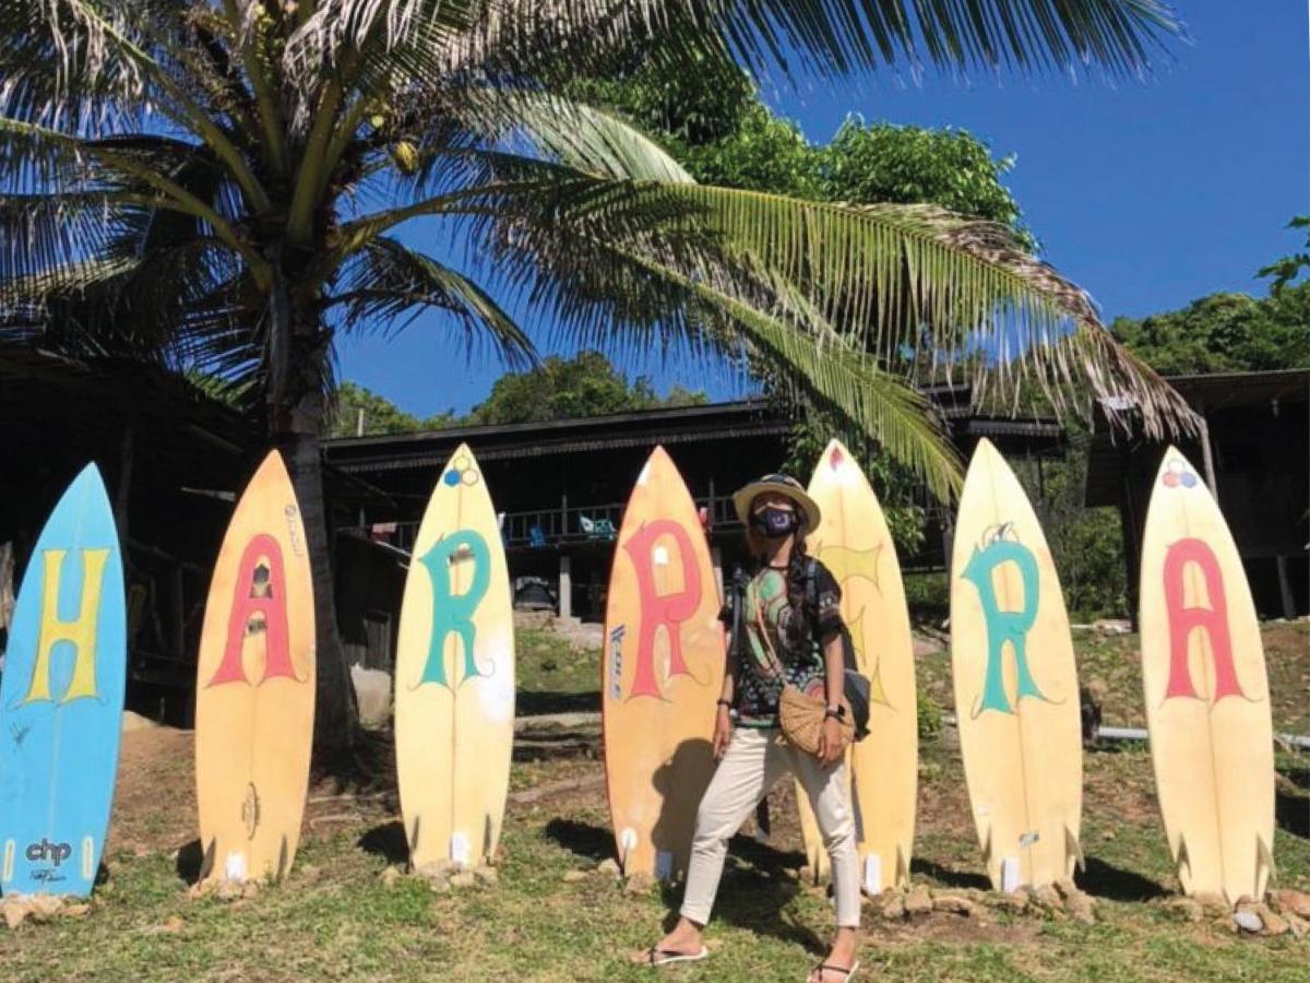
<path id="1" fill-rule="evenodd" d="M 469 422 L 528 423 L 703 402 L 705 393 L 683 387 L 662 398 L 645 376 L 629 384 L 601 353 L 582 351 L 570 359 L 552 355 L 527 372 L 500 376 L 487 398 L 473 408 Z"/>

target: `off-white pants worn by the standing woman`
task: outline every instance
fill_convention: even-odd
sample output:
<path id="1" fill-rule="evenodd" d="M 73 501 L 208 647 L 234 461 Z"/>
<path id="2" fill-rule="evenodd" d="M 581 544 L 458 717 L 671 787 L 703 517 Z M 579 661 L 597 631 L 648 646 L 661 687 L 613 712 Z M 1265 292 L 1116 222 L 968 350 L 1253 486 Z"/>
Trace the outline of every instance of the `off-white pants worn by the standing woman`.
<path id="1" fill-rule="evenodd" d="M 790 772 L 810 796 L 823 844 L 832 858 L 838 928 L 859 927 L 859 855 L 845 763 L 832 768 L 781 739 L 778 730 L 736 727 L 696 810 L 683 916 L 703 925 L 723 874 L 728 839 L 741 828 L 773 784 Z"/>

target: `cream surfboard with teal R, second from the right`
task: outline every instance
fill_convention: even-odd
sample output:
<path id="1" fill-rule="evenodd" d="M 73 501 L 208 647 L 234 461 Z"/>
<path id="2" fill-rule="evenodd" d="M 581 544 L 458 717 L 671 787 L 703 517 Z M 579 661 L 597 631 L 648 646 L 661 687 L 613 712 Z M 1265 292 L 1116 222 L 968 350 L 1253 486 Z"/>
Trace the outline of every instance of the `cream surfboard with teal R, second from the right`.
<path id="1" fill-rule="evenodd" d="M 1081 862 L 1078 672 L 1060 579 L 1014 472 L 980 440 L 951 550 L 951 668 L 969 803 L 997 890 Z"/>

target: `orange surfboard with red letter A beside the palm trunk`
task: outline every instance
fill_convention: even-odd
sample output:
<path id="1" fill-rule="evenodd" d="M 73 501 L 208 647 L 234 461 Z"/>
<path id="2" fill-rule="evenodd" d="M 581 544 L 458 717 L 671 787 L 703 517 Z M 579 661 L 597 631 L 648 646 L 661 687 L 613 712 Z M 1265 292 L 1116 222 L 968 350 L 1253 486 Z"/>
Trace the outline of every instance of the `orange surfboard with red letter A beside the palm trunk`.
<path id="1" fill-rule="evenodd" d="M 300 506 L 272 451 L 237 502 L 204 607 L 195 785 L 206 879 L 291 870 L 314 722 L 314 591 Z"/>

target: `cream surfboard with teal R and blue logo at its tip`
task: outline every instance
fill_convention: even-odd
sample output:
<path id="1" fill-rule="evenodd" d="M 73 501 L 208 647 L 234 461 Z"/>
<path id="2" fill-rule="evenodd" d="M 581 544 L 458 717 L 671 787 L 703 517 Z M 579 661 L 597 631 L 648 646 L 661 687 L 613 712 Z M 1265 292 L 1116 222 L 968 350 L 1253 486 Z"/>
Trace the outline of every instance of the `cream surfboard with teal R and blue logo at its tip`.
<path id="1" fill-rule="evenodd" d="M 495 509 L 461 444 L 414 543 L 396 657 L 396 764 L 410 862 L 495 858 L 514 748 L 514 612 Z"/>

